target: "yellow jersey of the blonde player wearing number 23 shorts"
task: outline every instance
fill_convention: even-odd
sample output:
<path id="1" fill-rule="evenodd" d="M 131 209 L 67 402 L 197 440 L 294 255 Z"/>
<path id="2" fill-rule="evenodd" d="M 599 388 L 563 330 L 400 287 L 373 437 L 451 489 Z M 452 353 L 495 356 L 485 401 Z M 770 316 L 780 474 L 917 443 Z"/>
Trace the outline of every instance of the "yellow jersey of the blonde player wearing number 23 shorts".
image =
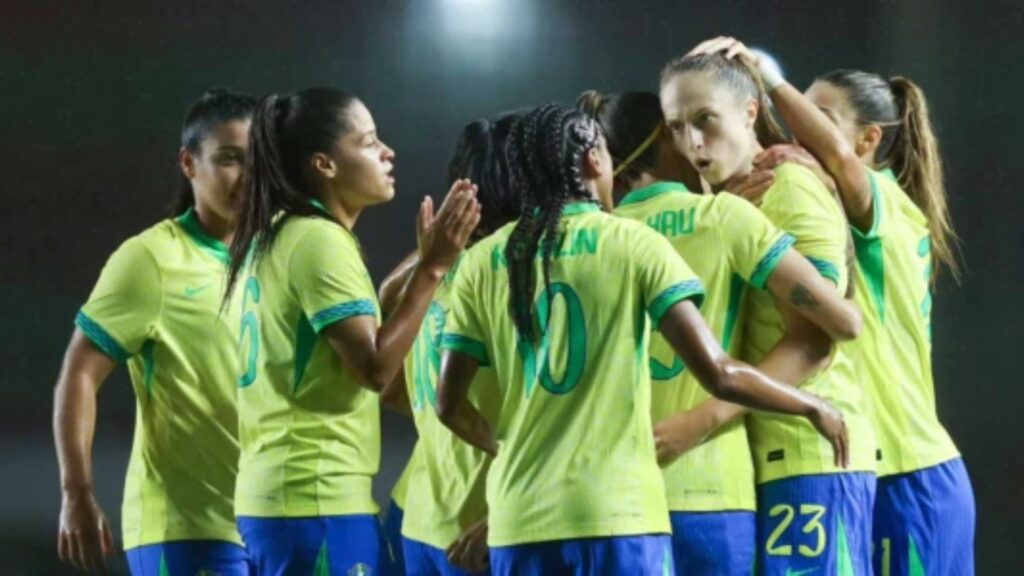
<path id="1" fill-rule="evenodd" d="M 813 172 L 796 164 L 775 169 L 775 183 L 764 195 L 761 210 L 778 228 L 797 239 L 797 250 L 822 276 L 845 293 L 848 227 L 842 208 Z M 750 321 L 743 357 L 760 362 L 783 333 L 782 319 L 771 294 L 758 292 L 749 302 Z M 850 467 L 833 464 L 831 446 L 802 418 L 756 413 L 748 417 L 758 482 L 810 474 L 874 470 L 874 434 L 867 419 L 861 388 L 847 345 L 836 346 L 831 363 L 801 387 L 843 411 L 850 433 Z"/>

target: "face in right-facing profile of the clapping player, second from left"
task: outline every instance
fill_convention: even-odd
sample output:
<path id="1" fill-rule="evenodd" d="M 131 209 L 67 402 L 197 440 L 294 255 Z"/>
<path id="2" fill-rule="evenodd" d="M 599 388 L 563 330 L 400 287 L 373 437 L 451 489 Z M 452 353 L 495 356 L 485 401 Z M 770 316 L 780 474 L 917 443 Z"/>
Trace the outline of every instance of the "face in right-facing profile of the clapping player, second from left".
<path id="1" fill-rule="evenodd" d="M 346 204 L 364 208 L 394 197 L 394 151 L 381 141 L 370 110 L 355 101 L 345 111 L 349 130 L 338 139 L 332 155 L 338 170 L 332 190 Z"/>

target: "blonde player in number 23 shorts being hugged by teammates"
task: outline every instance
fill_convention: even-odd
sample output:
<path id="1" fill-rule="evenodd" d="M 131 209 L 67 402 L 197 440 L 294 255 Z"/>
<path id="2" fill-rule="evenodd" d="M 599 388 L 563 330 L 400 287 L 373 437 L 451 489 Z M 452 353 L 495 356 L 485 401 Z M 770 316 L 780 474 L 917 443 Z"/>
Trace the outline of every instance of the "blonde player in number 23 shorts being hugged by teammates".
<path id="1" fill-rule="evenodd" d="M 716 191 L 728 190 L 731 180 L 749 173 L 762 146 L 782 140 L 762 108 L 757 71 L 703 47 L 665 67 L 660 98 L 677 147 Z M 810 170 L 795 164 L 776 168 L 761 210 L 796 238 L 797 249 L 839 293 L 847 291 L 846 219 Z M 784 310 L 763 292 L 752 293 L 748 307 L 744 358 L 760 362 L 783 333 Z M 767 414 L 748 418 L 759 484 L 758 569 L 779 575 L 802 570 L 867 574 L 874 440 L 843 346 L 837 346 L 828 367 L 802 387 L 844 411 L 850 427 L 850 466 L 836 466 L 827 447 L 798 419 Z"/>

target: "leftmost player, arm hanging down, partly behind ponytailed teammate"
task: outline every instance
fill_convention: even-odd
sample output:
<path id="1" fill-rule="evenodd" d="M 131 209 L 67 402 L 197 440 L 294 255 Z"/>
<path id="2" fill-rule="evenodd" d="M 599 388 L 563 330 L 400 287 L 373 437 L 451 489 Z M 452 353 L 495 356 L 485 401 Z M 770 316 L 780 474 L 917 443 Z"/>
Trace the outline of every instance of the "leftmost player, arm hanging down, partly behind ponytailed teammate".
<path id="1" fill-rule="evenodd" d="M 239 440 L 238 306 L 220 314 L 228 249 L 256 100 L 213 90 L 185 115 L 176 217 L 111 256 L 57 380 L 53 428 L 60 463 L 60 559 L 105 569 L 114 553 L 92 492 L 96 394 L 127 362 L 137 398 L 125 483 L 124 547 L 133 574 L 248 574 L 234 528 Z"/>

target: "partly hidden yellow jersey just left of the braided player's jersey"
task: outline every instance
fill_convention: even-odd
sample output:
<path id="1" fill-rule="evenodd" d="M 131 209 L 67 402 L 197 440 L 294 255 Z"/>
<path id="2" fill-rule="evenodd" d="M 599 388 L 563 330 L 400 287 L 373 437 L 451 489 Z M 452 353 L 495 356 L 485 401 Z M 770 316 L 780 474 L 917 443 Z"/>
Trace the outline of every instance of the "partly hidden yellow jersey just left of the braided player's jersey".
<path id="1" fill-rule="evenodd" d="M 420 435 L 421 466 L 410 480 L 401 533 L 407 538 L 442 549 L 487 516 L 485 486 L 490 467 L 490 457 L 452 434 L 437 419 L 436 413 L 439 346 L 458 266 L 437 288 L 413 354 L 406 360 L 406 383 Z M 481 368 L 477 371 L 469 400 L 488 421 L 497 420 L 499 400 L 494 370 Z"/>

